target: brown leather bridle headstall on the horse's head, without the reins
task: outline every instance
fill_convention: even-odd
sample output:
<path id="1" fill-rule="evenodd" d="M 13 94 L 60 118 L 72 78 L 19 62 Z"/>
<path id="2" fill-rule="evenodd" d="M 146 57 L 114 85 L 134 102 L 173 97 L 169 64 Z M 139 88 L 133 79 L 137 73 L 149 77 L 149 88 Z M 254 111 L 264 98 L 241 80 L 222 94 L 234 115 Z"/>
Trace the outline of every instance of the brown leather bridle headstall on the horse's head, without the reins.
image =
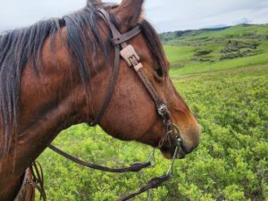
<path id="1" fill-rule="evenodd" d="M 100 123 L 102 118 L 105 115 L 105 111 L 111 101 L 113 90 L 115 86 L 115 82 L 118 78 L 119 72 L 119 63 L 120 63 L 120 56 L 125 60 L 125 62 L 133 68 L 133 70 L 138 75 L 138 79 L 143 83 L 144 87 L 147 89 L 147 92 L 152 97 L 153 101 L 155 102 L 157 113 L 163 119 L 163 127 L 164 127 L 164 135 L 162 136 L 158 148 L 163 146 L 163 143 L 168 140 L 168 143 L 171 147 L 175 147 L 172 143 L 176 142 L 176 136 L 173 134 L 173 126 L 172 126 L 172 117 L 168 110 L 167 104 L 162 100 L 160 96 L 155 91 L 155 88 L 152 86 L 149 80 L 147 80 L 147 76 L 142 71 L 143 64 L 140 61 L 140 57 L 138 56 L 135 48 L 131 45 L 127 44 L 127 41 L 131 38 L 135 38 L 140 32 L 141 29 L 139 25 L 134 29 L 131 29 L 129 32 L 125 34 L 121 34 L 118 29 L 114 26 L 110 14 L 105 11 L 105 9 L 100 9 L 99 13 L 105 20 L 108 28 L 112 32 L 112 43 L 114 47 L 114 65 L 113 65 L 113 74 L 111 78 L 111 83 L 107 89 L 107 93 L 105 96 L 105 101 L 100 109 L 100 112 L 96 115 L 95 121 L 93 121 L 90 125 L 96 126 Z"/>

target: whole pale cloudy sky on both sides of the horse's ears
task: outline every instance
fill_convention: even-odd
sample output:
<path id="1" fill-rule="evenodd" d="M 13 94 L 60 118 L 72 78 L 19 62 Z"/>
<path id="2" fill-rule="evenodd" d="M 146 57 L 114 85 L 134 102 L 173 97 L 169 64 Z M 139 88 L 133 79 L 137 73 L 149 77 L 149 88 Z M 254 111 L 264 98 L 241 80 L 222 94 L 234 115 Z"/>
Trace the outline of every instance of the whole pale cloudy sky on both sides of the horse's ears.
<path id="1" fill-rule="evenodd" d="M 61 17 L 86 0 L 0 0 L 0 30 Z M 120 3 L 120 0 L 106 0 Z M 159 32 L 268 23 L 268 0 L 146 0 L 145 15 Z"/>

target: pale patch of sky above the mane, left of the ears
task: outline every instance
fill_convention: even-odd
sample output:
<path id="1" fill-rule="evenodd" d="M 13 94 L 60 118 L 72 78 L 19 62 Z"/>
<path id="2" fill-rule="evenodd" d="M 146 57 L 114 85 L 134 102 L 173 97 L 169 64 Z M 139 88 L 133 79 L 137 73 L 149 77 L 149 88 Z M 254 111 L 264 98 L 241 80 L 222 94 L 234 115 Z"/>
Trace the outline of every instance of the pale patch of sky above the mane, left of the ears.
<path id="1" fill-rule="evenodd" d="M 13 29 L 61 17 L 82 8 L 86 0 L 0 0 L 0 29 Z"/>

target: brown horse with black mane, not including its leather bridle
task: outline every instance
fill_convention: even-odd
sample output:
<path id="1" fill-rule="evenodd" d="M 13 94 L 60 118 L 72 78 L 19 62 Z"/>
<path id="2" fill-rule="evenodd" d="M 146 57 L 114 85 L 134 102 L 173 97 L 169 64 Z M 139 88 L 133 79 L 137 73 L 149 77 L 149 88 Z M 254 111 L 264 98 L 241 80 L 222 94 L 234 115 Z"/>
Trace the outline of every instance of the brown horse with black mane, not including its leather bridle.
<path id="1" fill-rule="evenodd" d="M 113 71 L 111 33 L 97 12 L 110 13 L 121 33 L 140 24 L 128 41 L 143 72 L 168 105 L 180 130 L 184 153 L 199 143 L 200 129 L 168 75 L 169 64 L 155 29 L 141 18 L 142 0 L 120 5 L 88 2 L 77 13 L 40 21 L 0 36 L 0 200 L 13 200 L 25 170 L 73 124 L 94 121 Z M 157 147 L 163 121 L 137 74 L 121 59 L 111 102 L 100 126 L 114 138 Z M 173 147 L 163 148 L 166 158 Z"/>

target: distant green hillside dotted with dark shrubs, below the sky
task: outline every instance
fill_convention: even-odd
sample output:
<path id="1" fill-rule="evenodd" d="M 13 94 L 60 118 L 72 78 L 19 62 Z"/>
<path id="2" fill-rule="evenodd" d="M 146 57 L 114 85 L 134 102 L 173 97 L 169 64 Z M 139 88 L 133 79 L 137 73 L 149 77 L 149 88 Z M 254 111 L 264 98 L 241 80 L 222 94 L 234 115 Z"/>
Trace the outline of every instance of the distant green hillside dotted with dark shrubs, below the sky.
<path id="1" fill-rule="evenodd" d="M 268 24 L 174 31 L 160 34 L 160 38 L 175 70 L 191 67 L 204 71 L 210 66 L 214 71 L 221 63 L 226 63 L 226 68 L 268 63 Z"/>

